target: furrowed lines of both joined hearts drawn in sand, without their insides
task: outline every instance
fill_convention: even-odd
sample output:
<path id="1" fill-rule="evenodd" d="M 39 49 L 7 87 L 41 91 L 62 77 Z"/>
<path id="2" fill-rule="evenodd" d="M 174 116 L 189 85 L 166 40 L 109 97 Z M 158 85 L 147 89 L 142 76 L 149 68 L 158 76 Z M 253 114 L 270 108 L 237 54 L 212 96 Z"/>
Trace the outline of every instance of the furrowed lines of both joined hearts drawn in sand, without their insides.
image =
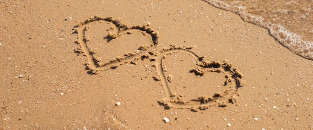
<path id="1" fill-rule="evenodd" d="M 86 35 L 90 25 L 95 22 L 99 24 L 109 25 L 109 29 L 106 29 L 106 35 L 103 35 L 103 39 L 110 42 L 112 39 L 121 37 L 122 35 L 131 35 L 133 32 L 141 32 L 144 36 L 148 36 L 150 43 L 138 46 L 137 50 L 124 54 L 123 56 L 117 56 L 111 58 L 108 61 L 98 58 L 96 55 L 97 50 L 92 48 L 92 44 L 88 41 L 90 36 Z M 105 30 L 101 30 L 105 31 Z M 206 61 L 204 56 L 198 56 L 190 49 L 194 46 L 185 47 L 171 45 L 169 48 L 163 48 L 159 51 L 156 50 L 158 44 L 159 34 L 155 30 L 149 27 L 149 24 L 128 26 L 127 23 L 122 22 L 120 19 L 113 20 L 112 17 L 101 18 L 94 16 L 93 18 L 86 19 L 85 21 L 79 21 L 75 28 L 75 32 L 78 35 L 76 43 L 80 45 L 79 48 L 75 49 L 76 52 L 83 53 L 87 57 L 87 63 L 85 64 L 87 69 L 91 73 L 98 73 L 98 71 L 105 71 L 107 69 L 114 69 L 124 63 L 130 62 L 136 64 L 136 61 L 140 58 L 147 58 L 151 62 L 153 67 L 157 71 L 157 76 L 153 76 L 154 80 L 162 82 L 166 97 L 158 100 L 158 103 L 163 105 L 166 109 L 170 108 L 181 108 L 190 109 L 191 111 L 205 110 L 210 106 L 225 107 L 229 103 L 238 101 L 239 88 L 242 87 L 244 81 L 242 80 L 242 74 L 237 68 L 224 60 L 220 61 Z M 137 33 L 138 34 L 138 33 Z M 120 44 L 120 43 L 119 43 Z M 110 50 L 106 50 L 110 51 Z M 184 95 L 174 92 L 170 88 L 170 78 L 168 77 L 165 67 L 165 56 L 172 53 L 184 53 L 191 56 L 195 60 L 195 66 L 189 70 L 189 73 L 196 75 L 208 75 L 208 73 L 218 73 L 225 77 L 225 86 L 228 88 L 224 92 L 213 92 L 213 95 L 201 95 L 191 99 L 184 99 Z M 210 87 L 210 86 L 204 86 Z"/>

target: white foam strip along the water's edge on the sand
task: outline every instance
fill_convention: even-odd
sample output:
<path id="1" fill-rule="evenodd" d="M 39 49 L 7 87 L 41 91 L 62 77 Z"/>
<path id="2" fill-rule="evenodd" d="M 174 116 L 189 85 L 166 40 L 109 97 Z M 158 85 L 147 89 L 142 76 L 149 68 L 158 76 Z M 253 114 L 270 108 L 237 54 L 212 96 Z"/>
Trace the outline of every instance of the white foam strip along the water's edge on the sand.
<path id="1" fill-rule="evenodd" d="M 297 35 L 279 24 L 264 22 L 264 19 L 259 16 L 254 16 L 245 10 L 244 6 L 228 5 L 219 0 L 203 0 L 207 3 L 227 11 L 232 11 L 238 14 L 244 21 L 268 29 L 269 34 L 274 37 L 280 44 L 287 47 L 292 52 L 304 58 L 313 60 L 313 41 L 304 41 L 300 35 Z M 236 2 L 233 2 L 236 3 Z M 285 11 L 285 10 L 279 10 Z"/>

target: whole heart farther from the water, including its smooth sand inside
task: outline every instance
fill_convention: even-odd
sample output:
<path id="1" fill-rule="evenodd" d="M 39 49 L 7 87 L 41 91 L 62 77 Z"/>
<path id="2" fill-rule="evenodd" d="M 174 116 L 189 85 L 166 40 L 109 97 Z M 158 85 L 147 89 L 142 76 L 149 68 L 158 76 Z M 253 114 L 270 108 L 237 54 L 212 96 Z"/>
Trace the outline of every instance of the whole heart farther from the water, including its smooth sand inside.
<path id="1" fill-rule="evenodd" d="M 76 43 L 80 44 L 76 52 L 87 56 L 86 66 L 92 73 L 126 62 L 135 63 L 138 57 L 154 49 L 159 37 L 148 23 L 128 26 L 120 19 L 98 16 L 78 21 L 75 32 Z"/>

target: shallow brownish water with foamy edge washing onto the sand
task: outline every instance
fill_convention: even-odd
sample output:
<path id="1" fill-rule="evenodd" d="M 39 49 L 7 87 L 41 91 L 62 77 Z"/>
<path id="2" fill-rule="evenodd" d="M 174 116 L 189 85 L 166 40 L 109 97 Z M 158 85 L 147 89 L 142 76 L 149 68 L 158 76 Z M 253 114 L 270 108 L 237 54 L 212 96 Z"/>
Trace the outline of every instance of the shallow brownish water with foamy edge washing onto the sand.
<path id="1" fill-rule="evenodd" d="M 268 29 L 292 52 L 313 60 L 313 0 L 203 0 Z"/>

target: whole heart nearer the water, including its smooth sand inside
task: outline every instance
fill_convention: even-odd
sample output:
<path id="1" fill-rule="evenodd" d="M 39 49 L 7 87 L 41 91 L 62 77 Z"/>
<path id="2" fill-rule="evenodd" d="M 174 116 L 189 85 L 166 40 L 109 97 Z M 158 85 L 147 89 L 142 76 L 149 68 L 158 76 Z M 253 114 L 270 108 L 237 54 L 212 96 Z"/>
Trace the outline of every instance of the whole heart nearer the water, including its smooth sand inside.
<path id="1" fill-rule="evenodd" d="M 161 51 L 155 68 L 166 97 L 158 102 L 165 108 L 204 110 L 237 102 L 242 74 L 224 60 L 206 61 L 185 47 L 171 45 Z"/>

